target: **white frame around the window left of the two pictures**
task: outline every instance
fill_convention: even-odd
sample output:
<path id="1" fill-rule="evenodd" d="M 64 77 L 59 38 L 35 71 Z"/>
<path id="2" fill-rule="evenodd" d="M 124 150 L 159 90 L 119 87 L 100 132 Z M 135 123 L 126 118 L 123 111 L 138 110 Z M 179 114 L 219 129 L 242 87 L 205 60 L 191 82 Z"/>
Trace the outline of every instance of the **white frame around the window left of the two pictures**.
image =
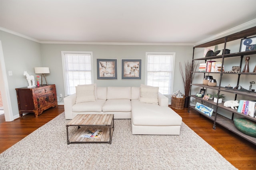
<path id="1" fill-rule="evenodd" d="M 62 72 L 63 72 L 63 81 L 64 81 L 64 91 L 65 91 L 65 96 L 71 95 L 68 94 L 68 87 L 67 87 L 67 83 L 68 80 L 66 78 L 66 59 L 65 59 L 65 55 L 70 54 L 70 55 L 81 55 L 81 54 L 90 54 L 91 57 L 91 82 L 92 84 L 94 83 L 94 76 L 93 76 L 93 55 L 92 55 L 92 51 L 61 51 L 61 55 L 62 55 Z"/>

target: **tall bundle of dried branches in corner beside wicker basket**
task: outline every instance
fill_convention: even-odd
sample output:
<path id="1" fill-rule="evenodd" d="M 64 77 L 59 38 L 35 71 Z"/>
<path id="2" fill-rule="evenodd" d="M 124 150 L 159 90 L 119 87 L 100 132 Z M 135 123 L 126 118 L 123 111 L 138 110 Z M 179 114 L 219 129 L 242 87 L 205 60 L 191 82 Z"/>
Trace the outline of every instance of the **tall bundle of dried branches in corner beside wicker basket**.
<path id="1" fill-rule="evenodd" d="M 190 84 L 194 79 L 194 75 L 192 75 L 192 71 L 195 71 L 198 63 L 195 61 L 185 61 L 185 72 L 182 67 L 182 62 L 180 62 L 180 73 L 182 75 L 182 80 L 183 80 L 183 85 L 184 85 L 184 90 L 185 90 L 185 107 L 188 107 L 189 104 L 189 94 L 190 94 Z"/>

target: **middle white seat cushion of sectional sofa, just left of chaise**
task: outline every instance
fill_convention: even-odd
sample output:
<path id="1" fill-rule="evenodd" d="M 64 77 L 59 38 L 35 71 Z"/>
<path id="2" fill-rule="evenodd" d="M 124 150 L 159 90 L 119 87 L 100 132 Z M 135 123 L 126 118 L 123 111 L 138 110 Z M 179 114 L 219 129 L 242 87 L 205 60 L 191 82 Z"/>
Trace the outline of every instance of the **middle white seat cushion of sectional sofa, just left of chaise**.
<path id="1" fill-rule="evenodd" d="M 103 112 L 130 112 L 131 109 L 129 99 L 109 99 L 102 107 Z"/>

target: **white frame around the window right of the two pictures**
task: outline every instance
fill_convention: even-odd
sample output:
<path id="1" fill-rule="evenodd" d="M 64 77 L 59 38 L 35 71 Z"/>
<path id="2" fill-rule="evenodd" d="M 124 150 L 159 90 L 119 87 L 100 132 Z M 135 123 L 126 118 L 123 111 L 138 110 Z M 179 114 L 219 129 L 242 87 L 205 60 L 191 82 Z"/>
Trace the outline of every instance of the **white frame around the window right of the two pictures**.
<path id="1" fill-rule="evenodd" d="M 169 82 L 169 93 L 170 94 L 164 94 L 165 96 L 171 96 L 172 95 L 172 91 L 173 91 L 173 84 L 174 84 L 174 65 L 175 65 L 175 52 L 146 52 L 146 65 L 145 65 L 145 85 L 148 85 L 148 55 L 173 55 L 173 57 L 171 57 L 171 71 L 170 75 L 171 75 L 171 80 Z M 158 71 L 161 72 L 161 71 Z M 166 71 L 165 71 L 166 72 Z"/>

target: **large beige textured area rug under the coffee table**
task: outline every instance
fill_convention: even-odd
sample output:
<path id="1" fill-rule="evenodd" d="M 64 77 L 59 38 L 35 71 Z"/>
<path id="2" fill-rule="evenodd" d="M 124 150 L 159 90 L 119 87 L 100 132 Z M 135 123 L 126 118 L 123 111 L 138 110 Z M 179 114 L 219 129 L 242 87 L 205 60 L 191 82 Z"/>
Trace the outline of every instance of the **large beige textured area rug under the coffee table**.
<path id="1" fill-rule="evenodd" d="M 130 119 L 115 119 L 112 144 L 68 145 L 68 121 L 62 113 L 4 151 L 0 154 L 0 169 L 236 169 L 184 123 L 178 136 L 132 135 Z"/>

